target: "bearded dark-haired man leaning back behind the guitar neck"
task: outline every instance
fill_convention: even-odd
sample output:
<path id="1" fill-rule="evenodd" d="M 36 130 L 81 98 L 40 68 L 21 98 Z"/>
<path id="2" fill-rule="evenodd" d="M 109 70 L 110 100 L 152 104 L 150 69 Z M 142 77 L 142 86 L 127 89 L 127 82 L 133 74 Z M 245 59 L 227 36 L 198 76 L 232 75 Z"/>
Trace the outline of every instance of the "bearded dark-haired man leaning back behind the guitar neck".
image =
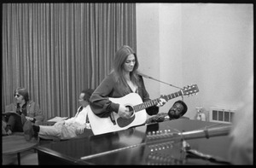
<path id="1" fill-rule="evenodd" d="M 158 113 L 155 116 L 148 118 L 146 124 L 159 123 L 172 119 L 179 119 L 188 110 L 187 105 L 183 101 L 176 101 L 170 108 L 168 113 Z"/>

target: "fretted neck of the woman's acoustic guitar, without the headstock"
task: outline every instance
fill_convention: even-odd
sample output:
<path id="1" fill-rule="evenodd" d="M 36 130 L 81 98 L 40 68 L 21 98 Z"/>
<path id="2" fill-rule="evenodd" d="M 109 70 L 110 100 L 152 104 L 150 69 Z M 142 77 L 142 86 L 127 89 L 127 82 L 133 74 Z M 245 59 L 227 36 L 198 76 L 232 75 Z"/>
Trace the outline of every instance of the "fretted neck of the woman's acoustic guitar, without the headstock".
<path id="1" fill-rule="evenodd" d="M 172 93 L 170 95 L 163 96 L 162 98 L 166 99 L 166 101 L 169 101 L 173 98 L 176 98 L 177 96 L 183 96 L 183 92 L 180 90 L 180 91 L 177 91 L 177 92 Z M 139 111 L 141 111 L 145 108 L 157 105 L 157 103 L 159 101 L 160 101 L 160 98 L 157 98 L 157 99 L 154 99 L 154 100 L 150 100 L 150 101 L 146 101 L 146 102 L 143 102 L 141 104 L 138 104 L 138 105 L 134 106 L 133 108 L 134 108 L 135 112 L 139 112 Z"/>

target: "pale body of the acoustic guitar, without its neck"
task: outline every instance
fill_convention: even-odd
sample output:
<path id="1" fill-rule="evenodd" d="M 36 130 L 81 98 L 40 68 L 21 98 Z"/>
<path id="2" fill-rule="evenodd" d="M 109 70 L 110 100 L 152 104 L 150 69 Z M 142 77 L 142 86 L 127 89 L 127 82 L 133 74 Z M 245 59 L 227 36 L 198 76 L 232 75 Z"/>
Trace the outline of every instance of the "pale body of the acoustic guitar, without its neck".
<path id="1" fill-rule="evenodd" d="M 90 120 L 90 127 L 94 135 L 100 135 L 108 132 L 118 131 L 118 130 L 126 130 L 131 126 L 143 125 L 147 120 L 147 113 L 145 109 L 134 112 L 133 106 L 143 103 L 141 96 L 137 93 L 130 93 L 126 96 L 120 98 L 109 98 L 110 101 L 115 103 L 123 104 L 126 107 L 129 107 L 132 116 L 130 119 L 123 119 L 119 117 L 118 113 L 113 112 L 113 121 L 108 118 L 100 118 L 96 116 L 95 113 L 92 112 L 91 108 L 89 108 L 88 117 Z"/>

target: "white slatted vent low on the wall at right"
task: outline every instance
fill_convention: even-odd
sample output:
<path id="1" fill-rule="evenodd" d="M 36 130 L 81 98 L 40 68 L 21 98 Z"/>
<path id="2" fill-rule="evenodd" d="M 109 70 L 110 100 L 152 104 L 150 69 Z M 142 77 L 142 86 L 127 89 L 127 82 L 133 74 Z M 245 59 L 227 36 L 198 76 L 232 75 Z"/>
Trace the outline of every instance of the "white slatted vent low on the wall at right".
<path id="1" fill-rule="evenodd" d="M 211 107 L 209 121 L 217 123 L 232 123 L 236 109 Z"/>

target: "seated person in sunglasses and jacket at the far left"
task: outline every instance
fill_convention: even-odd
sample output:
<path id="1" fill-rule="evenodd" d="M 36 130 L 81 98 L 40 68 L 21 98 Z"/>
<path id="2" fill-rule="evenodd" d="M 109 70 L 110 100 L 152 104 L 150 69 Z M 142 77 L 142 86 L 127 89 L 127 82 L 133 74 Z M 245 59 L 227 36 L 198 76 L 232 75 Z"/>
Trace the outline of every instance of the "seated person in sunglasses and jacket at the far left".
<path id="1" fill-rule="evenodd" d="M 23 125 L 26 120 L 30 120 L 36 125 L 44 120 L 38 103 L 29 100 L 26 88 L 17 88 L 14 96 L 15 103 L 6 106 L 5 113 L 3 113 L 2 135 L 23 132 Z"/>

